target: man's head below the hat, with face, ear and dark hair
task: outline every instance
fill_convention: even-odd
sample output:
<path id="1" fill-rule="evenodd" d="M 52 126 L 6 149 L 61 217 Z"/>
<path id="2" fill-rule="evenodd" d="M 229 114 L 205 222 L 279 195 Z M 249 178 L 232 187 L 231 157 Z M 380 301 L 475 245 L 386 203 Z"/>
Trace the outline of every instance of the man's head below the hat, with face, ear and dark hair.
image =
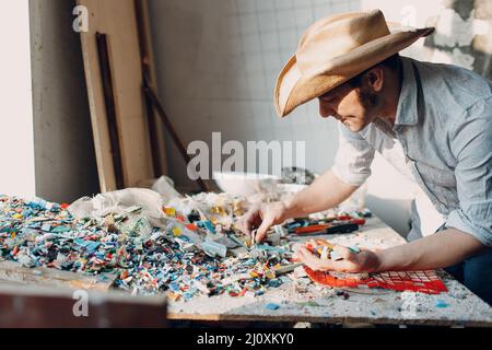
<path id="1" fill-rule="evenodd" d="M 378 116 L 395 116 L 400 82 L 400 57 L 394 55 L 319 96 L 319 114 L 335 117 L 351 131 L 361 131 Z"/>

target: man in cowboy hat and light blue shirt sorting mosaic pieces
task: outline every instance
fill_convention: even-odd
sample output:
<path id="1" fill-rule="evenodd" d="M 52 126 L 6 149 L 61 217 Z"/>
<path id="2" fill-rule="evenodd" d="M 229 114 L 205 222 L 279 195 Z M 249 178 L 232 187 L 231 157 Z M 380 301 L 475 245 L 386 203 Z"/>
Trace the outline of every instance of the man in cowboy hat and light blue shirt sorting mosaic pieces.
<path id="1" fill-rule="evenodd" d="M 291 200 L 253 208 L 243 229 L 258 229 L 259 242 L 271 225 L 336 207 L 371 175 L 377 151 L 413 177 L 445 224 L 385 250 L 338 247 L 340 261 L 301 248 L 301 261 L 342 272 L 453 266 L 458 280 L 492 303 L 492 89 L 471 71 L 398 55 L 432 32 L 390 33 L 380 11 L 326 18 L 307 30 L 280 74 L 276 107 L 284 117 L 318 98 L 321 117 L 340 121 L 336 164 Z"/>

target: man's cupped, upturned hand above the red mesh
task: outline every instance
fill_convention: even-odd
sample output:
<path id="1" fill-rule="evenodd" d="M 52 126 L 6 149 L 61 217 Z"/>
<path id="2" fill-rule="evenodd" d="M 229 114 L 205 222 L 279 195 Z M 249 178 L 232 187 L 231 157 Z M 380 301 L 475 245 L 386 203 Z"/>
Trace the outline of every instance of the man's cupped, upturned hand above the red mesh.
<path id="1" fill-rule="evenodd" d="M 314 271 L 336 271 L 336 272 L 377 272 L 380 260 L 375 252 L 362 249 L 354 253 L 343 246 L 336 246 L 335 250 L 340 254 L 343 260 L 321 260 L 306 247 L 302 246 L 295 255 L 297 259 Z"/>

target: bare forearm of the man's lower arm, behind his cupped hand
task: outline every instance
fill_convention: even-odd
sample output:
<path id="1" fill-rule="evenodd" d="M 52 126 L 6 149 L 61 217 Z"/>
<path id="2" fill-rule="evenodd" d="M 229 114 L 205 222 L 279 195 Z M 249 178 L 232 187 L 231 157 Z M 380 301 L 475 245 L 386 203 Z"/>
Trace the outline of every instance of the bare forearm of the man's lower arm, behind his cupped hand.
<path id="1" fill-rule="evenodd" d="M 374 272 L 445 268 L 484 249 L 485 246 L 470 234 L 448 229 L 422 240 L 378 252 L 379 266 Z"/>

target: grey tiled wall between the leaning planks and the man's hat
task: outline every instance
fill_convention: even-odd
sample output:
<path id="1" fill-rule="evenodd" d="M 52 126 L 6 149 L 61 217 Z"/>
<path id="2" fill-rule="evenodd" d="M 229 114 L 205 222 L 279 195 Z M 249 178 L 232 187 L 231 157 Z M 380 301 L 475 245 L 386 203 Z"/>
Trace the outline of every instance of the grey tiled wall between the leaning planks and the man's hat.
<path id="1" fill-rule="evenodd" d="M 306 166 L 324 172 L 337 150 L 333 120 L 316 102 L 280 120 L 273 88 L 314 21 L 356 11 L 359 0 L 150 0 L 161 97 L 179 135 L 226 140 L 306 141 Z M 171 176 L 186 182 L 168 148 Z"/>

